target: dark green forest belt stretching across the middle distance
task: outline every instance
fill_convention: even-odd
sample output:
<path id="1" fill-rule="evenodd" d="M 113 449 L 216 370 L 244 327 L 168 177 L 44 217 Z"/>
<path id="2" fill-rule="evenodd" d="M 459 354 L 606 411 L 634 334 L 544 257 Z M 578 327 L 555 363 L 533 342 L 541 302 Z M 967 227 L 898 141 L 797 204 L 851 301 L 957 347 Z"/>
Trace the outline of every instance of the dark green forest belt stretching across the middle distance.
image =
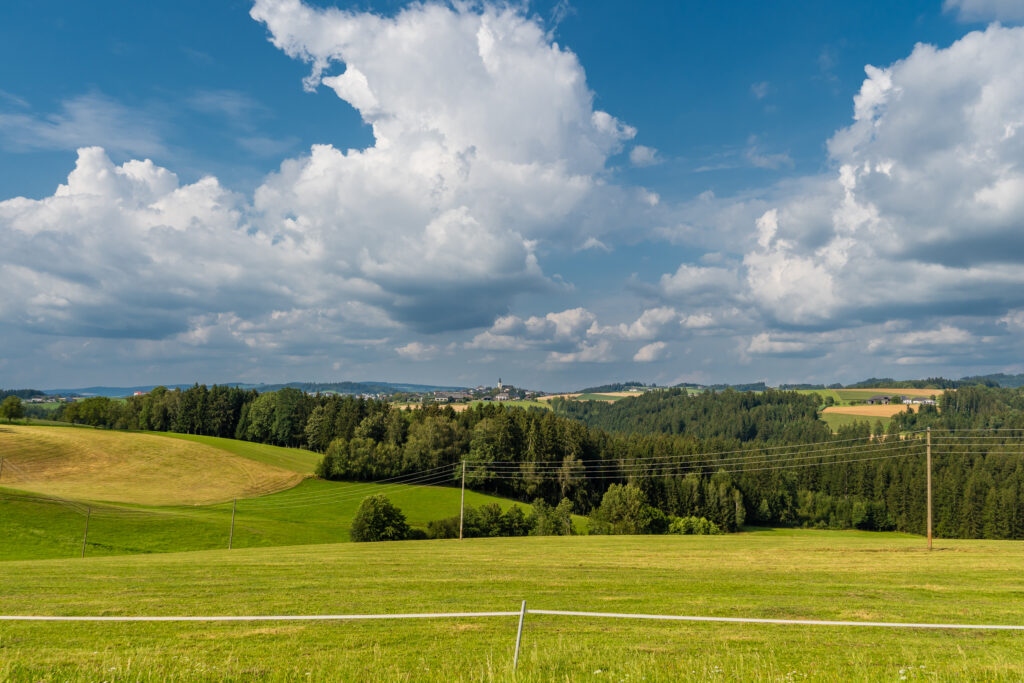
<path id="1" fill-rule="evenodd" d="M 197 385 L 125 401 L 96 397 L 58 419 L 99 427 L 229 436 L 324 454 L 330 479 L 378 480 L 450 472 L 467 485 L 591 514 L 612 484 L 632 484 L 669 516 L 743 524 L 925 530 L 925 429 L 932 428 L 935 529 L 940 537 L 1024 538 L 1024 391 L 964 387 L 938 410 L 897 415 L 886 433 L 867 422 L 831 434 L 816 395 L 652 391 L 614 403 L 558 402 L 553 411 L 428 405 L 257 393 Z M 994 436 L 946 430 L 997 429 Z M 989 432 L 985 432 L 989 434 Z M 969 436 L 958 436 L 968 434 Z M 956 440 L 964 439 L 964 440 Z M 812 445 L 800 445 L 812 444 Z"/>

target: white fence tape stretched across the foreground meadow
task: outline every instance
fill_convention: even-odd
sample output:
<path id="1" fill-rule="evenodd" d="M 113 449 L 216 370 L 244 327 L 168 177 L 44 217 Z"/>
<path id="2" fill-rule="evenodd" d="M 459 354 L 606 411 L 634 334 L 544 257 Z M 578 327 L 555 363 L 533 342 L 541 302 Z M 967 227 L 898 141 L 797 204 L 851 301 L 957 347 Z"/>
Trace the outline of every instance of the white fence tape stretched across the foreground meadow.
<path id="1" fill-rule="evenodd" d="M 562 609 L 523 609 L 492 612 L 423 612 L 401 614 L 253 614 L 209 616 L 62 616 L 0 614 L 0 622 L 357 622 L 401 618 L 478 618 L 488 616 L 584 616 L 596 618 L 636 618 L 663 622 L 716 622 L 727 624 L 776 624 L 788 626 L 881 627 L 894 629 L 956 629 L 974 631 L 1024 631 L 1024 626 L 1009 624 L 915 624 L 908 622 L 840 622 L 826 620 L 759 618 L 753 616 L 690 616 L 681 614 L 634 614 L 626 612 L 568 611 Z"/>

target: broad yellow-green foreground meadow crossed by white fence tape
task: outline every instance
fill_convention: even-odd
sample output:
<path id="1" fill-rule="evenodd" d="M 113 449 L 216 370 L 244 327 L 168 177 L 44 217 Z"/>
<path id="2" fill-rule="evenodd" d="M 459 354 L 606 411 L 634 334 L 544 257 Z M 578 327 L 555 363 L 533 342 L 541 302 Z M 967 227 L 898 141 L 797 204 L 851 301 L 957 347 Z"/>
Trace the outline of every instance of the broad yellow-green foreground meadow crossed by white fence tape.
<path id="1" fill-rule="evenodd" d="M 1024 543 L 765 531 L 407 542 L 15 562 L 4 613 L 518 608 L 1022 624 Z M 4 680 L 509 678 L 515 618 L 0 623 Z M 518 681 L 1020 680 L 1021 634 L 529 615 Z M 902 670 L 902 671 L 901 671 Z"/>

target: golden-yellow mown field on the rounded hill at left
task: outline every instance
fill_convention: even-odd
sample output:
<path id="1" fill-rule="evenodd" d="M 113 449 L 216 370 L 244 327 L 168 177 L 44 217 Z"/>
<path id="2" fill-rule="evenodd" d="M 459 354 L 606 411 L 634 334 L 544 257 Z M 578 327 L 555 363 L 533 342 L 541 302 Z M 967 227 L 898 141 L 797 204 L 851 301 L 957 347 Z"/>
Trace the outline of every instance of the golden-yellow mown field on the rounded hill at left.
<path id="1" fill-rule="evenodd" d="M 291 488 L 304 477 L 166 436 L 72 427 L 0 427 L 0 485 L 77 500 L 194 505 Z"/>

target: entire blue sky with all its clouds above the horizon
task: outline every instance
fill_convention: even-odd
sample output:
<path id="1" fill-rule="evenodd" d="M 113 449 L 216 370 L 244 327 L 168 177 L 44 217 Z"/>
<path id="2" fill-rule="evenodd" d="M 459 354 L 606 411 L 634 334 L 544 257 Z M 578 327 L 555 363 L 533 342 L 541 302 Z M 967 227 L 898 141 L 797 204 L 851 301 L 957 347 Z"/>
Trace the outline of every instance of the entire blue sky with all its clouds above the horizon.
<path id="1" fill-rule="evenodd" d="M 0 386 L 1024 372 L 1024 3 L 15 2 Z"/>

